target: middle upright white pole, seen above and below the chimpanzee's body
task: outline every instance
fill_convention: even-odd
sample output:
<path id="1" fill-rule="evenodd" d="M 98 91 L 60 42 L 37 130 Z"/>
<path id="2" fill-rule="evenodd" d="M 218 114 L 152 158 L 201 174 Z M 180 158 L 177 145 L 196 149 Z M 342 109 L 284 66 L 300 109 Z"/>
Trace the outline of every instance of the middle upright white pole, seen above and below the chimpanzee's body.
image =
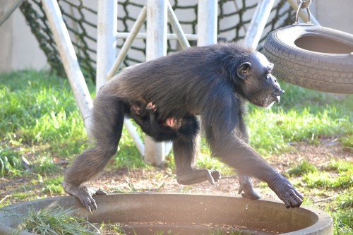
<path id="1" fill-rule="evenodd" d="M 167 54 L 167 0 L 147 0 L 146 60 Z M 145 161 L 160 165 L 164 162 L 164 143 L 145 138 Z"/>

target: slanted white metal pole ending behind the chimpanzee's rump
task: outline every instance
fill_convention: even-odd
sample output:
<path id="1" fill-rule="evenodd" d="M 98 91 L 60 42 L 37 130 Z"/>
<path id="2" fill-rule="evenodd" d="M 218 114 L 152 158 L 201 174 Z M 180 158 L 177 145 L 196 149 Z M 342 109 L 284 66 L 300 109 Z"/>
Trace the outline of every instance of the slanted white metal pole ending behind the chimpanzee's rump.
<path id="1" fill-rule="evenodd" d="M 48 18 L 50 29 L 53 32 L 55 44 L 58 47 L 60 58 L 63 61 L 66 76 L 70 82 L 73 95 L 75 96 L 80 113 L 83 116 L 85 128 L 90 131 L 90 113 L 92 111 L 92 98 L 80 70 L 73 44 L 71 43 L 68 30 L 61 15 L 56 0 L 42 1 L 45 15 Z"/>

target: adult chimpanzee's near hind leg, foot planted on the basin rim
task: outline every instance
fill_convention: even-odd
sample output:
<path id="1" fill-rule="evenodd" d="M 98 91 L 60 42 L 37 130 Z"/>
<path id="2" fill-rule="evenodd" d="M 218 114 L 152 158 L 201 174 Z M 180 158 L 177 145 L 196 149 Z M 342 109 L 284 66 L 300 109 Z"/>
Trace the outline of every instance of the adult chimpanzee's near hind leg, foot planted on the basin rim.
<path id="1" fill-rule="evenodd" d="M 89 211 L 97 205 L 94 194 L 105 194 L 84 186 L 85 181 L 100 174 L 109 159 L 116 153 L 124 123 L 124 103 L 116 97 L 104 97 L 98 93 L 92 111 L 90 134 L 95 140 L 95 147 L 78 155 L 66 171 L 63 186 L 66 193 L 76 196 Z"/>

